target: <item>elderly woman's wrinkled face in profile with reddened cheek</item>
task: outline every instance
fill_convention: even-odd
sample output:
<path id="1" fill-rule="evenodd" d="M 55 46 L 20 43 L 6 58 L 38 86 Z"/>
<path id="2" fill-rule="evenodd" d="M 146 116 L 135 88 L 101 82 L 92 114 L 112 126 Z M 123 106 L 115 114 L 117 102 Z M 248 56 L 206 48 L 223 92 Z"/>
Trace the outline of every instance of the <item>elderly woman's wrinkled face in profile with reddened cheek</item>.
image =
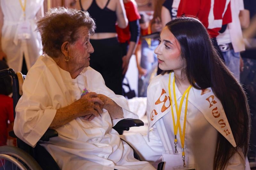
<path id="1" fill-rule="evenodd" d="M 76 32 L 77 40 L 70 45 L 70 64 L 76 69 L 88 67 L 90 65 L 90 53 L 94 52 L 90 43 L 90 32 L 86 26 L 78 28 Z"/>

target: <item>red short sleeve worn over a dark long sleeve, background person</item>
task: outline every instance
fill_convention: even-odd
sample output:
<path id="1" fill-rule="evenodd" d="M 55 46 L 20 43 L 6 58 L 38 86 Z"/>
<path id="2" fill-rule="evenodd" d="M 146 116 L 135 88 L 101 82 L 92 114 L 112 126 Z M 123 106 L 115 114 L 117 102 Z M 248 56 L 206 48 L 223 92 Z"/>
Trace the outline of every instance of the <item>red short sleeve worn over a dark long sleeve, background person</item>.
<path id="1" fill-rule="evenodd" d="M 125 8 L 126 16 L 129 22 L 140 19 L 140 14 L 138 12 L 138 9 L 136 5 L 133 4 L 133 2 L 125 3 L 124 8 Z"/>

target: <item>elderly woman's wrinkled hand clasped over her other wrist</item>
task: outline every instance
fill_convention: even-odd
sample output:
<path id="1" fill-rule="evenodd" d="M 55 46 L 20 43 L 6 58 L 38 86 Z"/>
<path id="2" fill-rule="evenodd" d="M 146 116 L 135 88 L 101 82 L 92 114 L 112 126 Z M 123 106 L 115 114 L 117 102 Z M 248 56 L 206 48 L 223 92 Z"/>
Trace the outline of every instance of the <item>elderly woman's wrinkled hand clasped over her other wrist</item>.
<path id="1" fill-rule="evenodd" d="M 91 121 L 95 116 L 102 113 L 100 106 L 104 105 L 104 102 L 97 97 L 97 93 L 89 92 L 73 104 L 76 105 L 76 109 L 82 114 L 81 116 L 85 116 L 85 120 Z"/>

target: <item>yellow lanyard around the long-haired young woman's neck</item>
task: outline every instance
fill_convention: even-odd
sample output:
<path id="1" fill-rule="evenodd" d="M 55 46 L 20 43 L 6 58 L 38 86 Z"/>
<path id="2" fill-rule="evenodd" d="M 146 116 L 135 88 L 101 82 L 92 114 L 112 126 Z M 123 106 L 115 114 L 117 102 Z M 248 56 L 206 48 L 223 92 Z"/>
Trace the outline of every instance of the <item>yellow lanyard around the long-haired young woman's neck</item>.
<path id="1" fill-rule="evenodd" d="M 181 100 L 180 100 L 180 107 L 178 110 L 178 105 L 177 105 L 177 100 L 176 100 L 176 92 L 175 92 L 175 75 L 173 77 L 173 83 L 172 83 L 172 88 L 173 88 L 173 96 L 174 96 L 174 102 L 175 102 L 175 108 L 176 108 L 176 114 L 177 114 L 177 123 L 175 123 L 174 120 L 174 113 L 173 113 L 173 108 L 172 108 L 172 98 L 171 98 L 171 73 L 169 75 L 169 96 L 170 96 L 170 102 L 171 102 L 171 109 L 172 109 L 172 122 L 173 122 L 173 130 L 174 130 L 174 147 L 175 147 L 175 153 L 178 153 L 177 151 L 177 132 L 179 129 L 180 132 L 180 143 L 181 143 L 181 147 L 182 147 L 182 159 L 183 159 L 183 163 L 184 163 L 184 167 L 186 166 L 185 164 L 185 151 L 184 151 L 184 144 L 185 144 L 185 131 L 186 131 L 186 119 L 187 119 L 187 110 L 188 110 L 188 94 L 189 91 L 191 89 L 192 85 L 190 85 L 186 91 L 183 93 Z M 183 123 L 183 133 L 181 133 L 181 126 L 180 126 L 180 115 L 181 115 L 181 107 L 183 104 L 183 100 L 185 98 L 185 95 L 187 93 L 186 96 L 186 105 L 185 105 L 185 115 L 184 115 L 184 123 Z"/>

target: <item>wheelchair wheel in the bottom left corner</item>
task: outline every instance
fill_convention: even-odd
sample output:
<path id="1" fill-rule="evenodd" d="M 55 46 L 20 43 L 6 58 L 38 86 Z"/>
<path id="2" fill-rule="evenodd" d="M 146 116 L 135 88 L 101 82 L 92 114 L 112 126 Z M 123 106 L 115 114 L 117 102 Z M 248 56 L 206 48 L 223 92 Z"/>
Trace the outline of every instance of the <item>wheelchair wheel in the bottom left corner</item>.
<path id="1" fill-rule="evenodd" d="M 0 146 L 0 170 L 42 170 L 27 152 L 14 146 Z"/>

